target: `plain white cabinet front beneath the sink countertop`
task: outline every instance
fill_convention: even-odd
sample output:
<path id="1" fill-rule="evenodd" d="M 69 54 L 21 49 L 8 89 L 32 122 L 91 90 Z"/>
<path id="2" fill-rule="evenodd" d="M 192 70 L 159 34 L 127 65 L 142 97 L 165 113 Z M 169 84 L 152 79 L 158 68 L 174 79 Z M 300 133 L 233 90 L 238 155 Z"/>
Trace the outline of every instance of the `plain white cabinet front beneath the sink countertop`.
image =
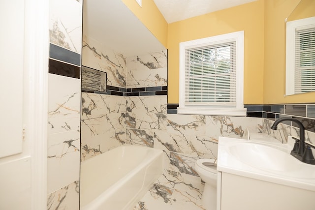
<path id="1" fill-rule="evenodd" d="M 315 191 L 218 173 L 217 210 L 315 210 Z"/>

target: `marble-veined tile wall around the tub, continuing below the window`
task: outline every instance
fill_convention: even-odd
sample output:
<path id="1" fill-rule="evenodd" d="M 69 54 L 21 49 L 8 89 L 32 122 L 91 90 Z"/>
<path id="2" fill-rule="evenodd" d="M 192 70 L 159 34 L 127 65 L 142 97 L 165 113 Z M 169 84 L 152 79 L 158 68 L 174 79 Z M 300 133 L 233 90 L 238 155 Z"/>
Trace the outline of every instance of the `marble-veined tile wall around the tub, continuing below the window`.
<path id="1" fill-rule="evenodd" d="M 167 113 L 167 51 L 125 57 L 84 36 L 83 65 L 108 74 L 105 93 L 82 92 L 81 161 L 121 144 L 164 150 L 165 168 L 196 176 L 219 136 L 262 132 L 261 118 Z M 126 86 L 125 86 L 126 84 Z"/>

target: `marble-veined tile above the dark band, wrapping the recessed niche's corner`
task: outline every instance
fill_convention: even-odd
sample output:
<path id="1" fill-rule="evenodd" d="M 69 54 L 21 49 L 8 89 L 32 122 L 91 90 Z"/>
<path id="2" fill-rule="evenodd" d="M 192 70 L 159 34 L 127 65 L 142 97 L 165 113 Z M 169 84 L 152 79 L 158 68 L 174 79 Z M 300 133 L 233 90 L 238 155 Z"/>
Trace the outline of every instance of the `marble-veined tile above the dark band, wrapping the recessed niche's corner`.
<path id="1" fill-rule="evenodd" d="M 107 72 L 107 85 L 126 88 L 126 57 L 83 36 L 82 64 Z"/>

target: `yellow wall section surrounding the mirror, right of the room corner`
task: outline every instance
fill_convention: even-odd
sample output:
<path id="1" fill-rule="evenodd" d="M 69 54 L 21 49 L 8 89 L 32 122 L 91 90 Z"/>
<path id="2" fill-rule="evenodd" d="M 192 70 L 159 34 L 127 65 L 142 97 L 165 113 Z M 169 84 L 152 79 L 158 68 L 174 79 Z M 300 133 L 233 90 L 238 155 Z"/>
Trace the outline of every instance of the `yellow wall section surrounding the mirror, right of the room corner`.
<path id="1" fill-rule="evenodd" d="M 284 96 L 285 18 L 299 1 L 265 0 L 264 104 L 315 102 L 315 92 Z"/>

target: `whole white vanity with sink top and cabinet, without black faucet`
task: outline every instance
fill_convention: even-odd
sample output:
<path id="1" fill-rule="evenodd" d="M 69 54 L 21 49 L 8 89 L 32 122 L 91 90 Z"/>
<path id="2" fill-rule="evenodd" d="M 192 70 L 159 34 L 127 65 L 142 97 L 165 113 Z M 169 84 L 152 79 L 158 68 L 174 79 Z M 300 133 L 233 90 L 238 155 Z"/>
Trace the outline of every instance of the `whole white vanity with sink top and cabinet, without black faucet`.
<path id="1" fill-rule="evenodd" d="M 315 165 L 269 138 L 220 137 L 217 210 L 315 210 Z"/>

